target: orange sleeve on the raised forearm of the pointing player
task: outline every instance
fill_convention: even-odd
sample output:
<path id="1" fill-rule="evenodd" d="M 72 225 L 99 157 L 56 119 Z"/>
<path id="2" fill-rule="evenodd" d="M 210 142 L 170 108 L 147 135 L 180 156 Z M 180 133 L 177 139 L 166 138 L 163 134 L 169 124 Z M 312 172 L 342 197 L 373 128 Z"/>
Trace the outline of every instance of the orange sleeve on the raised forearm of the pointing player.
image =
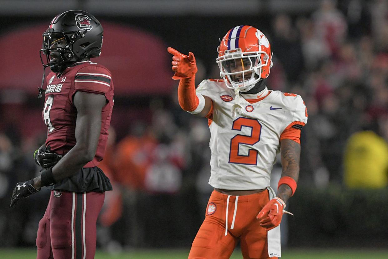
<path id="1" fill-rule="evenodd" d="M 195 94 L 195 75 L 179 80 L 178 101 L 180 107 L 185 111 L 194 111 L 198 107 L 199 99 Z"/>

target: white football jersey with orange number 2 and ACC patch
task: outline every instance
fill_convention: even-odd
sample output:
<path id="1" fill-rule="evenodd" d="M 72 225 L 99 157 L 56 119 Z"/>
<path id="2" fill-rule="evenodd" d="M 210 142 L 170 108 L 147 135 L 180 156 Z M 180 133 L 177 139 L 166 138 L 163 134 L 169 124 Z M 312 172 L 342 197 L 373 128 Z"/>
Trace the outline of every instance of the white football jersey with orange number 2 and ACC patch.
<path id="1" fill-rule="evenodd" d="M 213 100 L 209 184 L 228 190 L 269 186 L 282 132 L 293 122 L 307 123 L 303 99 L 280 91 L 253 104 L 240 97 L 242 113 L 232 118 L 235 94 L 223 80 L 204 80 L 196 92 Z"/>

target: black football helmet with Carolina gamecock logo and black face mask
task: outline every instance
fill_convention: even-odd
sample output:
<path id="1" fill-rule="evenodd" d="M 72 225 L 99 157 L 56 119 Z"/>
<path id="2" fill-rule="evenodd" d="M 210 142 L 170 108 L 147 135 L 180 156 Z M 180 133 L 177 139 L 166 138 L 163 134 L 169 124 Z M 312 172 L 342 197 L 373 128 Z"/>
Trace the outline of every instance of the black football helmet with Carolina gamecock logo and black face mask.
<path id="1" fill-rule="evenodd" d="M 43 33 L 43 70 L 50 66 L 53 72 L 61 73 L 73 63 L 100 56 L 103 32 L 99 21 L 88 12 L 69 10 L 55 16 Z M 42 56 L 46 56 L 46 62 Z"/>

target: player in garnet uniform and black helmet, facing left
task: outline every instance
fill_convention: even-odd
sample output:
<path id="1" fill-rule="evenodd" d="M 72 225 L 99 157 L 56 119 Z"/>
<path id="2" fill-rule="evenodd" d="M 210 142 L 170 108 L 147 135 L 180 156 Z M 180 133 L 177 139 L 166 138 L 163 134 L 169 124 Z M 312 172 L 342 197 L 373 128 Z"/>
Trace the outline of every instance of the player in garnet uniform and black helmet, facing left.
<path id="1" fill-rule="evenodd" d="M 104 192 L 112 189 L 97 166 L 108 138 L 113 82 L 107 68 L 90 61 L 100 56 L 102 33 L 99 21 L 80 10 L 55 16 L 43 33 L 43 69 L 51 69 L 40 90 L 48 130 L 34 156 L 44 169 L 16 184 L 10 205 L 42 186 L 52 190 L 39 222 L 37 259 L 94 258 L 97 216 Z"/>

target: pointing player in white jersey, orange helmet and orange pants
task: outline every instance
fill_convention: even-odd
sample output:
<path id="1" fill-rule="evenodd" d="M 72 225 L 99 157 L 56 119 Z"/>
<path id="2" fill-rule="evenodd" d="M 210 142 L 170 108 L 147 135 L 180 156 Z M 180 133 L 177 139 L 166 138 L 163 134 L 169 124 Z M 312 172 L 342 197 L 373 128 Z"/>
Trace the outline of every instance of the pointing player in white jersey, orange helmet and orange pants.
<path id="1" fill-rule="evenodd" d="M 244 258 L 281 257 L 279 224 L 298 181 L 307 109 L 300 96 L 267 89 L 272 53 L 260 30 L 236 26 L 217 50 L 223 79 L 195 89 L 194 54 L 168 48 L 180 106 L 208 118 L 211 132 L 214 191 L 189 258 L 229 258 L 238 240 Z M 283 170 L 275 193 L 269 183 L 279 151 Z"/>

